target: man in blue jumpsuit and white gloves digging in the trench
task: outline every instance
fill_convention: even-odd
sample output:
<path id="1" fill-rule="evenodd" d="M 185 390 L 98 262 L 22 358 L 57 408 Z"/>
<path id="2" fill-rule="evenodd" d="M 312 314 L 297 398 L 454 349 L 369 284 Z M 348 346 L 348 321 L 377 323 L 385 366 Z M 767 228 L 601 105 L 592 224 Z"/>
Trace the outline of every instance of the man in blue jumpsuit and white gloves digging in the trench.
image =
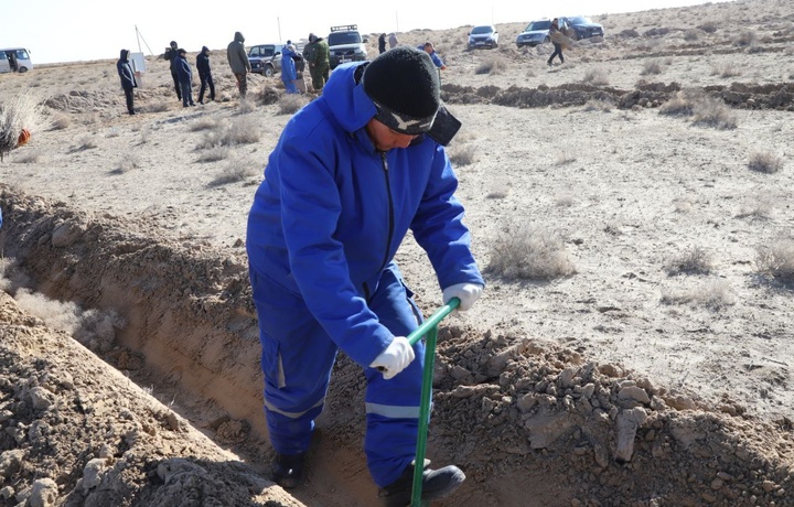
<path id="1" fill-rule="evenodd" d="M 425 345 L 394 256 L 407 231 L 427 251 L 444 303 L 465 311 L 483 279 L 444 145 L 460 128 L 430 56 L 400 46 L 334 69 L 287 123 L 248 217 L 273 476 L 300 484 L 314 419 L 341 348 L 367 380 L 364 451 L 387 506 L 410 503 Z M 426 470 L 422 498 L 452 493 L 455 466 Z"/>

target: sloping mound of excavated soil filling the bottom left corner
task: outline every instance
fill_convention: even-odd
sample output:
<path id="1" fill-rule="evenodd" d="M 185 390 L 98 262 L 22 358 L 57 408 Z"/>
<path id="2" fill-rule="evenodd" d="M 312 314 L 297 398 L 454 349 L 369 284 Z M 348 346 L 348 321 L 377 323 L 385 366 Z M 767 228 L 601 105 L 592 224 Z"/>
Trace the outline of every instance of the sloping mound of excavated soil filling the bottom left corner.
<path id="1" fill-rule="evenodd" d="M 0 501 L 299 506 L 0 292 Z"/>

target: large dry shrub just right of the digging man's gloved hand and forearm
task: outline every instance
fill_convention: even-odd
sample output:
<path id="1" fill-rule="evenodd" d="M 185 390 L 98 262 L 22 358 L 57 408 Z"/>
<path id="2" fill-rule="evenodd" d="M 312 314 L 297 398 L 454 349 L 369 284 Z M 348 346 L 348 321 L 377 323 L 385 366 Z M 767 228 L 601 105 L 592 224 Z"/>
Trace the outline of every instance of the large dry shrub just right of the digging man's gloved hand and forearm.
<path id="1" fill-rule="evenodd" d="M 576 273 L 562 238 L 541 227 L 512 222 L 491 247 L 486 270 L 505 279 L 550 280 Z"/>

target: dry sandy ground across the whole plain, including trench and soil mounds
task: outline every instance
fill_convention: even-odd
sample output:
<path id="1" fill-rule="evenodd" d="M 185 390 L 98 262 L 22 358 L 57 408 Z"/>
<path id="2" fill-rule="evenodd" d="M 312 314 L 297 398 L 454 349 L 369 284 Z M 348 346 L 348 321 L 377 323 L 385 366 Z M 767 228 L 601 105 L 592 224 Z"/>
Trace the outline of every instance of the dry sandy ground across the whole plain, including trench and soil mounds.
<path id="1" fill-rule="evenodd" d="M 529 20 L 493 51 L 399 34 L 449 65 L 487 281 L 440 333 L 429 457 L 469 481 L 438 505 L 792 506 L 794 4 L 596 20 L 550 69 L 513 43 Z M 111 60 L 0 75 L 0 105 L 42 104 L 0 163 L 1 504 L 376 503 L 346 358 L 307 484 L 267 481 L 243 241 L 300 104 L 259 76 L 240 104 L 212 62 L 218 100 L 185 110 L 150 58 L 135 117 Z"/>

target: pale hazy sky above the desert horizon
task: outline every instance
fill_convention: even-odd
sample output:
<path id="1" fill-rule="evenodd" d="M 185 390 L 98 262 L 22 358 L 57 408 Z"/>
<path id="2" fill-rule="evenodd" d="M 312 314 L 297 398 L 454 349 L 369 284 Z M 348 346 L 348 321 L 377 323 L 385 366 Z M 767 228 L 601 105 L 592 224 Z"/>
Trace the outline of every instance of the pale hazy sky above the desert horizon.
<path id="1" fill-rule="evenodd" d="M 555 15 L 597 15 L 695 6 L 707 0 L 475 0 L 440 1 L 248 1 L 0 0 L 0 47 L 23 46 L 33 64 L 117 58 L 119 50 L 162 53 L 174 40 L 197 52 L 226 47 L 239 31 L 246 45 L 328 35 L 333 24 L 358 24 L 362 33 L 449 29 L 470 24 L 527 22 Z M 197 7 L 203 6 L 203 7 Z M 464 7 L 465 6 L 465 7 Z M 471 7 L 470 7 L 471 6 Z M 279 36 L 280 29 L 280 36 Z M 609 35 L 609 34 L 608 34 Z"/>

